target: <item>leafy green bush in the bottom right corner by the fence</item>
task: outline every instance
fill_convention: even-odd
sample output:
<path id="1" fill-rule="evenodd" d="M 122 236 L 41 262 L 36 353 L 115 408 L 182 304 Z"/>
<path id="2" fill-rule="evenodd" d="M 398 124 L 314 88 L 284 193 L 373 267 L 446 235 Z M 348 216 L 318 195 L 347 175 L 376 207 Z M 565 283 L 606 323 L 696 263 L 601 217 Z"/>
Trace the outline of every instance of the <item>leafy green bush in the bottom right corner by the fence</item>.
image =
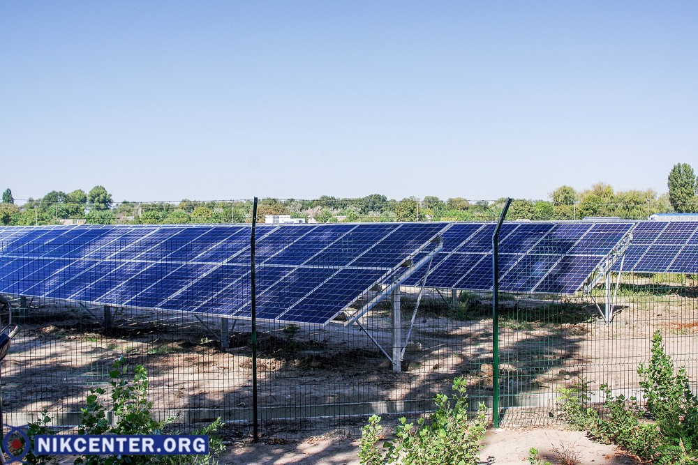
<path id="1" fill-rule="evenodd" d="M 639 365 L 644 408 L 635 397 L 604 392 L 601 416 L 585 408 L 590 399 L 589 383 L 560 390 L 563 412 L 577 427 L 593 436 L 616 443 L 643 460 L 659 464 L 698 464 L 698 398 L 692 393 L 685 367 L 676 372 L 671 357 L 664 352 L 662 336 L 652 337 L 652 357 L 647 366 Z"/>

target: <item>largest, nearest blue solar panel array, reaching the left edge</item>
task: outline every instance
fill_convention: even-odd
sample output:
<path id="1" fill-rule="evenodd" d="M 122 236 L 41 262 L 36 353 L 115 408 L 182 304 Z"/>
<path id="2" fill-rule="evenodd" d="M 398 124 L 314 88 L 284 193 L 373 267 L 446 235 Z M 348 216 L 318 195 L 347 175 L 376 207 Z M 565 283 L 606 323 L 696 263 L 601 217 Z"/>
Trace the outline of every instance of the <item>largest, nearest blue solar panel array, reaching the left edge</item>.
<path id="1" fill-rule="evenodd" d="M 429 252 L 446 223 L 257 229 L 260 319 L 325 324 Z M 0 292 L 97 305 L 251 317 L 250 226 L 0 229 Z"/>

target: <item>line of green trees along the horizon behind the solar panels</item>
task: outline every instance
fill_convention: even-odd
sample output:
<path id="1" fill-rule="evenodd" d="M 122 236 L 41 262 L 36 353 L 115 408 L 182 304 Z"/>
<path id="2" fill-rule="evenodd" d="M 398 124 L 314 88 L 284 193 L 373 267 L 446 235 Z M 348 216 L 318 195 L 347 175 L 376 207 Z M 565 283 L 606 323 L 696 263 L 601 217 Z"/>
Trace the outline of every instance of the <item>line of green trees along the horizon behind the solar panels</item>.
<path id="1" fill-rule="evenodd" d="M 669 192 L 616 191 L 607 183 L 577 191 L 562 185 L 546 200 L 512 201 L 507 219 L 578 220 L 595 216 L 643 219 L 654 213 L 698 212 L 698 178 L 687 163 L 674 165 L 668 176 Z M 318 199 L 261 199 L 257 221 L 266 215 L 290 215 L 315 222 L 375 221 L 491 221 L 498 218 L 505 199 L 469 201 L 462 197 L 388 199 L 371 194 L 361 198 L 323 195 Z M 52 190 L 40 199 L 16 205 L 10 189 L 3 192 L 0 222 L 12 225 L 60 224 L 84 220 L 89 224 L 168 224 L 251 222 L 252 202 L 197 201 L 114 203 L 112 195 L 96 185 L 89 192 Z"/>

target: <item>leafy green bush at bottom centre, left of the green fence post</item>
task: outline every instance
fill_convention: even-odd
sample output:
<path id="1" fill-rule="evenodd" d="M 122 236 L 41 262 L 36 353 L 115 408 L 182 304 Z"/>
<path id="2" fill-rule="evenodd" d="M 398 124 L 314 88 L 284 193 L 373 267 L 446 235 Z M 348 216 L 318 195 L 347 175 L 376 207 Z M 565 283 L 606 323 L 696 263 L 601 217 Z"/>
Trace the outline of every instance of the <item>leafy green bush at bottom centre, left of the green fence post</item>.
<path id="1" fill-rule="evenodd" d="M 453 381 L 455 395 L 436 395 L 436 411 L 429 422 L 420 418 L 417 427 L 400 418 L 394 441 L 378 448 L 380 417 L 374 415 L 362 429 L 359 459 L 362 464 L 457 464 L 477 463 L 480 439 L 484 436 L 486 407 L 482 402 L 473 422 L 468 421 L 468 397 L 463 379 Z"/>

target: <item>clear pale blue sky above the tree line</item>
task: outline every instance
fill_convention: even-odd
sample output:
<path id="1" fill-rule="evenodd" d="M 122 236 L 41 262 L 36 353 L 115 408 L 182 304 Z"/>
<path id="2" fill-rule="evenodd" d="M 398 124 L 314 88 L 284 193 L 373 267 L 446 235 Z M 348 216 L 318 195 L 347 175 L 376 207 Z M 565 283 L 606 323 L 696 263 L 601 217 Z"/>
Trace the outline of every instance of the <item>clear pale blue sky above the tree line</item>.
<path id="1" fill-rule="evenodd" d="M 698 168 L 698 1 L 0 2 L 0 188 L 545 198 Z"/>

